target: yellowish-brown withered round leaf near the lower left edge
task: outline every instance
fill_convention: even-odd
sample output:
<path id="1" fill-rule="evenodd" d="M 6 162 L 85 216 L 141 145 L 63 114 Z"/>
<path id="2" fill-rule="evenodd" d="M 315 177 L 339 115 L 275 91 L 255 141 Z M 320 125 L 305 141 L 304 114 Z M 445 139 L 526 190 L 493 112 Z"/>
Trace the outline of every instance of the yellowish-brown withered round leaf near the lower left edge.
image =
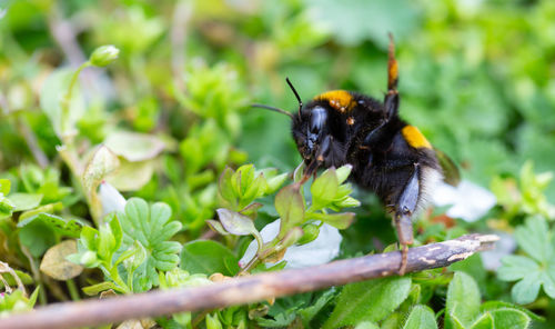
<path id="1" fill-rule="evenodd" d="M 77 252 L 77 241 L 65 240 L 47 250 L 40 270 L 57 280 L 69 280 L 79 276 L 83 267 L 68 261 L 65 258 Z"/>

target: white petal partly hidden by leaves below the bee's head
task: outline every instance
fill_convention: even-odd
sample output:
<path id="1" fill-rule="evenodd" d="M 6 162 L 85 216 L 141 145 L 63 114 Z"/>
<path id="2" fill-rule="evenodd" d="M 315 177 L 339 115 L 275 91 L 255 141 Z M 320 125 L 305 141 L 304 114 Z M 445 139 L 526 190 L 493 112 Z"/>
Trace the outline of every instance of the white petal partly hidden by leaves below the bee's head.
<path id="1" fill-rule="evenodd" d="M 264 243 L 270 242 L 280 232 L 281 220 L 274 220 L 266 225 L 261 231 Z M 302 246 L 291 246 L 285 251 L 283 260 L 287 263 L 285 268 L 303 268 L 322 265 L 331 261 L 340 253 L 340 245 L 343 237 L 339 230 L 324 223 L 320 228 L 320 233 L 314 241 Z M 240 267 L 244 267 L 256 253 L 258 245 L 252 241 L 246 248 L 245 253 L 239 261 Z"/>

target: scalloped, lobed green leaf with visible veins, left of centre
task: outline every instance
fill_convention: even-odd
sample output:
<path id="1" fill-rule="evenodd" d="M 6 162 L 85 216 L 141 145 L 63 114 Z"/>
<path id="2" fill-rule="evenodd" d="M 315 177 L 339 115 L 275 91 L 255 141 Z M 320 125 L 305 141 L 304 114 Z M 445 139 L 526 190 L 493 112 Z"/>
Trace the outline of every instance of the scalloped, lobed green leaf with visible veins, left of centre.
<path id="1" fill-rule="evenodd" d="M 131 198 L 125 210 L 118 212 L 123 231 L 122 250 L 132 248 L 135 240 L 147 250 L 147 260 L 135 271 L 140 290 L 158 285 L 155 270 L 168 271 L 178 266 L 181 245 L 169 241 L 181 229 L 181 223 L 171 219 L 171 208 L 162 202 L 149 206 L 147 201 Z"/>

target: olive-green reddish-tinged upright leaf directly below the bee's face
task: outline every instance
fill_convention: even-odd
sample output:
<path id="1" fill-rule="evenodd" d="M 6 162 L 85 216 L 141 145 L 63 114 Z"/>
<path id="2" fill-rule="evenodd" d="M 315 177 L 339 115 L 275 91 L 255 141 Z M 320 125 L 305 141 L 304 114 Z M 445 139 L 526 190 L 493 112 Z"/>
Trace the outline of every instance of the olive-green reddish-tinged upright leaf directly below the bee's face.
<path id="1" fill-rule="evenodd" d="M 280 237 L 304 222 L 304 201 L 297 185 L 290 185 L 275 196 L 275 210 L 281 216 Z"/>

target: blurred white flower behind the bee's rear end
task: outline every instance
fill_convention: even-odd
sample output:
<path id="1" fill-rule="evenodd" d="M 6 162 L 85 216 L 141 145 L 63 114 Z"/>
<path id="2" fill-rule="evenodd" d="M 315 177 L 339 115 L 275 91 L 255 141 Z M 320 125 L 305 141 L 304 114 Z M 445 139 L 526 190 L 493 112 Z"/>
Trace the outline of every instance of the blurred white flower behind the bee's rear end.
<path id="1" fill-rule="evenodd" d="M 497 199 L 487 189 L 467 180 L 461 181 L 457 187 L 447 183 L 438 183 L 432 195 L 435 206 L 444 207 L 452 205 L 446 215 L 461 218 L 466 221 L 476 221 L 492 209 Z"/>

